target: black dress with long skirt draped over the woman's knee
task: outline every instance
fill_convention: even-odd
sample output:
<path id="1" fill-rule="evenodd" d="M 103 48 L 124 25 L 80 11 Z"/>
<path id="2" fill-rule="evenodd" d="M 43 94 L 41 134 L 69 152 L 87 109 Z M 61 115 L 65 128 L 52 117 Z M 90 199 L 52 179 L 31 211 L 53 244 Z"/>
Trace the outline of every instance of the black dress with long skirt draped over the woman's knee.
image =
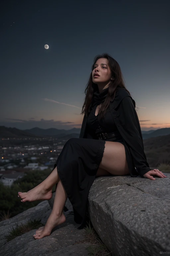
<path id="1" fill-rule="evenodd" d="M 59 178 L 73 207 L 74 221 L 81 224 L 79 229 L 86 225 L 88 194 L 96 178 L 106 141 L 124 144 L 116 125 L 113 124 L 110 110 L 106 112 L 104 119 L 98 121 L 98 115 L 95 116 L 98 104 L 92 105 L 87 119 L 88 130 L 94 139 L 69 139 L 53 167 L 54 169 L 57 166 Z M 114 133 L 115 136 L 107 140 L 98 139 L 97 134 L 101 132 Z"/>

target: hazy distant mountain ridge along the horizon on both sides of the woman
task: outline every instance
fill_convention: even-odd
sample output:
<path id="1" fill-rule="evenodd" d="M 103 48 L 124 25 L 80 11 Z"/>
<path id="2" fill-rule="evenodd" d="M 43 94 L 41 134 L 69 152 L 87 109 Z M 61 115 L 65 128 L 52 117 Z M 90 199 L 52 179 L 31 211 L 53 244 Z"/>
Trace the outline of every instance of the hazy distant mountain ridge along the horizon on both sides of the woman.
<path id="1" fill-rule="evenodd" d="M 80 128 L 72 128 L 70 130 L 64 129 L 56 129 L 56 128 L 49 128 L 49 129 L 41 129 L 38 127 L 26 130 L 20 130 L 17 128 L 8 128 L 5 126 L 0 126 L 0 138 L 15 138 L 15 137 L 67 137 L 67 135 L 71 134 L 80 134 Z M 142 137 L 144 139 L 149 139 L 158 136 L 164 136 L 170 134 L 170 128 L 162 128 L 158 130 L 150 130 L 150 131 L 142 131 Z M 70 136 L 69 136 L 70 137 Z M 76 136 L 77 137 L 77 136 Z"/>

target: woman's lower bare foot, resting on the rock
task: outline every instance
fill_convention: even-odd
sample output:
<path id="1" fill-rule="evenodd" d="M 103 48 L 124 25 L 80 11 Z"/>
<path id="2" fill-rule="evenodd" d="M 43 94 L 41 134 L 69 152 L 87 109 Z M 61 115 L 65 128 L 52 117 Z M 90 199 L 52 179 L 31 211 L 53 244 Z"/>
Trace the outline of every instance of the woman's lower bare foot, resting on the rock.
<path id="1" fill-rule="evenodd" d="M 45 226 L 40 227 L 38 230 L 36 230 L 36 235 L 33 235 L 33 237 L 35 239 L 41 239 L 45 236 L 50 236 L 52 229 L 64 223 L 65 221 L 66 218 L 64 213 L 62 213 L 59 217 L 55 216 L 54 214 L 50 214 Z"/>

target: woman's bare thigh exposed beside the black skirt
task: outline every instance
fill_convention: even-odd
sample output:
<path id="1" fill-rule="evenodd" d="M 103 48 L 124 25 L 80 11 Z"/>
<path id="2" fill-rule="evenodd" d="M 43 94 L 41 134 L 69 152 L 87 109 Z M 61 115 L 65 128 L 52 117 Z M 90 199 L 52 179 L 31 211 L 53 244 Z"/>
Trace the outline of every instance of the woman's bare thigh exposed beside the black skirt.
<path id="1" fill-rule="evenodd" d="M 102 174 L 103 173 L 103 174 Z M 102 161 L 96 176 L 129 174 L 125 147 L 120 142 L 106 141 Z"/>

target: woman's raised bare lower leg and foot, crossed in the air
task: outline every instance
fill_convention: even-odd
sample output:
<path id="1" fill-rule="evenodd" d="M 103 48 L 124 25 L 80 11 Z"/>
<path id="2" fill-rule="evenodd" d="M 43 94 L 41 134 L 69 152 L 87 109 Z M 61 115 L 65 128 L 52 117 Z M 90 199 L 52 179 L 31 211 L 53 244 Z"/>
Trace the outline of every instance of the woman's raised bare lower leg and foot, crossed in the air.
<path id="1" fill-rule="evenodd" d="M 18 192 L 18 196 L 22 198 L 21 202 L 49 200 L 52 197 L 52 187 L 59 181 L 57 167 L 49 174 L 49 176 L 42 181 L 38 186 L 29 190 L 28 192 Z"/>

